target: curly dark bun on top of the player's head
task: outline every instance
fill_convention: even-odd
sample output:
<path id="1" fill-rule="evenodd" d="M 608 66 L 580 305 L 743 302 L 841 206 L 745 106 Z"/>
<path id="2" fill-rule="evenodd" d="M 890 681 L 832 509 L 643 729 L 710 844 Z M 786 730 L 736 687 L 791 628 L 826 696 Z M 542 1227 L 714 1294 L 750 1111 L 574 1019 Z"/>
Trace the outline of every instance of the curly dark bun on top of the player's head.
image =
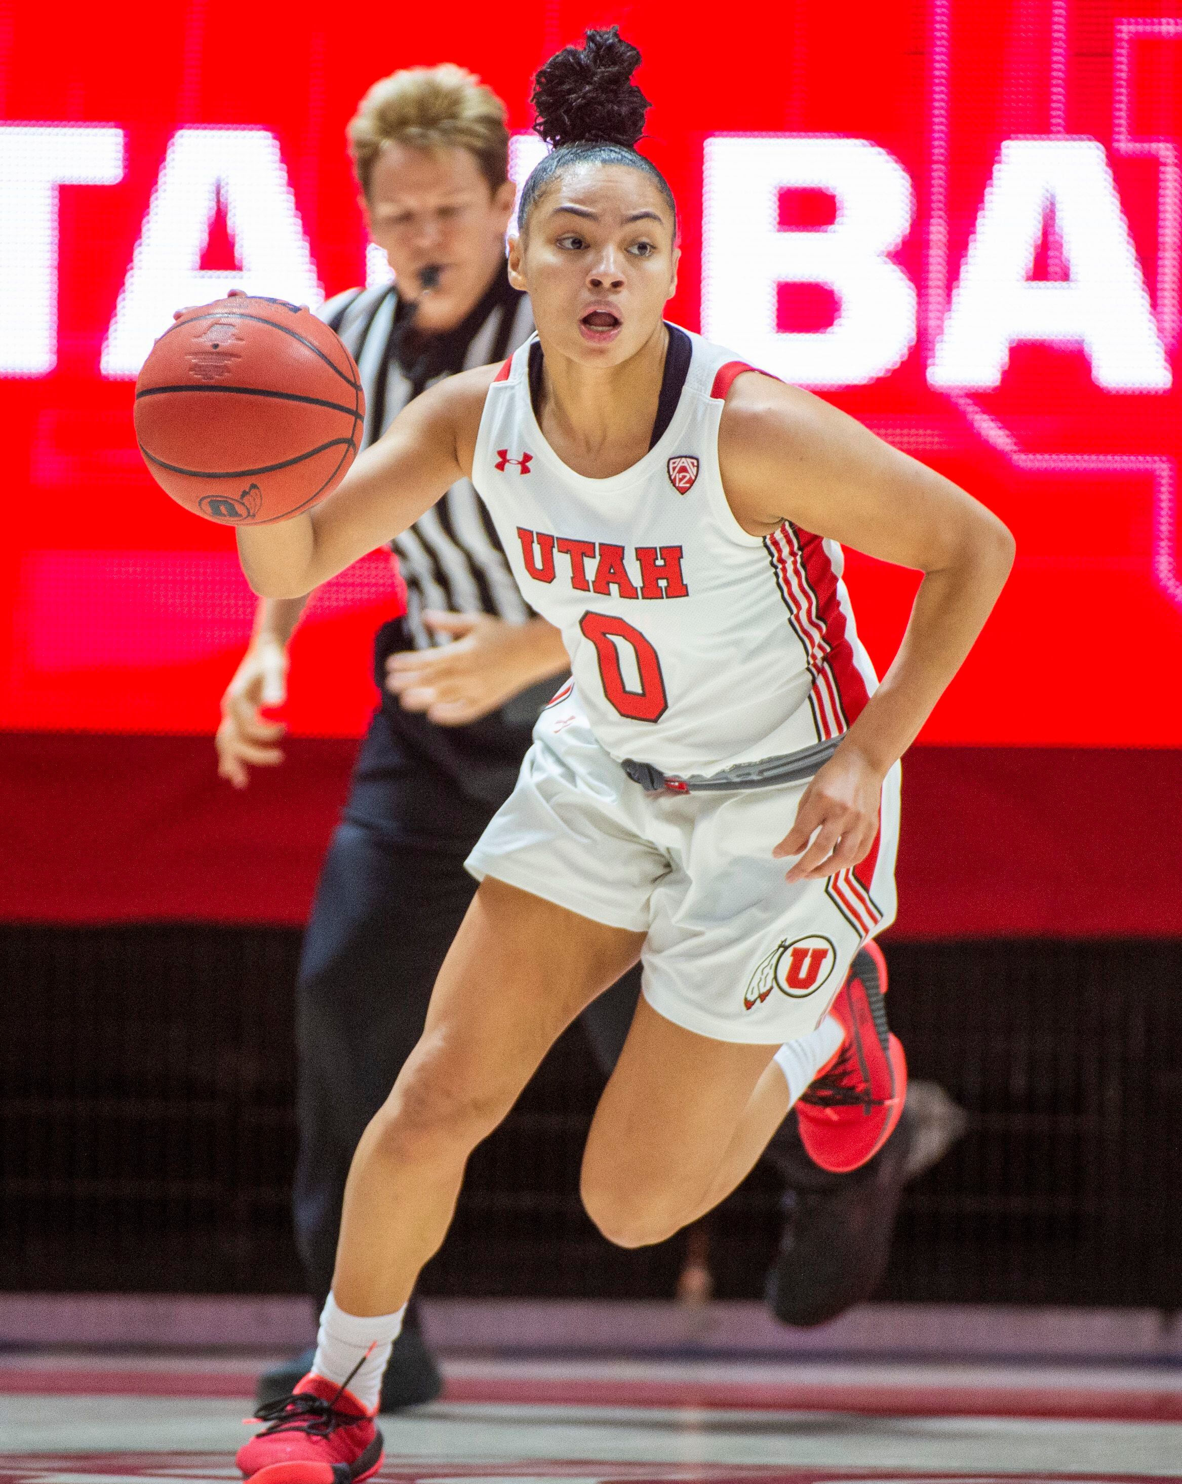
<path id="1" fill-rule="evenodd" d="M 587 31 L 583 46 L 556 52 L 534 79 L 534 129 L 564 144 L 618 144 L 635 148 L 644 134 L 648 99 L 632 82 L 641 53 L 610 31 Z"/>

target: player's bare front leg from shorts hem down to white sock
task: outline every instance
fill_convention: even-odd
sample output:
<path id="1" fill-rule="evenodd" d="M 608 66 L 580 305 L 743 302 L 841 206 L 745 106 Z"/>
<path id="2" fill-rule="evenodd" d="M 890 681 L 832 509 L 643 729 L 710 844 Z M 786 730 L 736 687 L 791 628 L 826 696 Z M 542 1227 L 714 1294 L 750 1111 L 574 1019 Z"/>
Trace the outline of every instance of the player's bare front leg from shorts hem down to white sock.
<path id="1" fill-rule="evenodd" d="M 415 1051 L 365 1131 L 346 1189 L 334 1294 L 389 1315 L 443 1241 L 469 1155 L 639 933 L 486 880 L 440 969 Z"/>

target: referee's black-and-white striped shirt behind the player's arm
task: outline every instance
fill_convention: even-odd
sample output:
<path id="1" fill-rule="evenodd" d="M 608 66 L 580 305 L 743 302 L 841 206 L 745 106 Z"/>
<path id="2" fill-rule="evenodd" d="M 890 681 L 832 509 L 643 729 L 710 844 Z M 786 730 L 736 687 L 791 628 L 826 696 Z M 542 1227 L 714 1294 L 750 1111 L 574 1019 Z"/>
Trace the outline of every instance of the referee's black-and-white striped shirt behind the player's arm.
<path id="1" fill-rule="evenodd" d="M 503 361 L 534 329 L 529 300 L 512 286 L 504 269 L 463 324 L 420 337 L 412 352 L 403 349 L 409 338 L 403 335 L 406 306 L 393 283 L 349 289 L 331 298 L 319 315 L 357 362 L 365 387 L 365 448 L 381 438 L 420 392 L 457 371 Z M 510 623 L 531 616 L 469 479 L 454 484 L 438 505 L 394 537 L 392 548 L 406 583 L 406 622 L 415 649 L 449 643 L 448 635 L 433 635 L 426 628 L 423 608 L 491 613 Z"/>

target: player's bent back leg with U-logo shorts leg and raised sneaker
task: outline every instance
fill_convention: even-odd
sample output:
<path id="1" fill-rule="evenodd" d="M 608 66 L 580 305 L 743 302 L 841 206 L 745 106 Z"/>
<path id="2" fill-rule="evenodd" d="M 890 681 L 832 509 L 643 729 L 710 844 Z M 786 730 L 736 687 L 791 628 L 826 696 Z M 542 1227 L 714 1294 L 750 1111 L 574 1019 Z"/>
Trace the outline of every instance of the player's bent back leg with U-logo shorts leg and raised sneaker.
<path id="1" fill-rule="evenodd" d="M 653 889 L 644 1000 L 583 1172 L 592 1218 L 624 1245 L 660 1241 L 728 1195 L 820 1073 L 808 1095 L 823 1106 L 805 1110 L 804 1137 L 828 1168 L 865 1163 L 902 1112 L 906 1067 L 884 985 L 847 982 L 893 904 L 897 781 L 884 788 L 874 901 L 845 880 L 785 881 L 770 837 L 799 792 L 650 809 L 670 868 Z"/>

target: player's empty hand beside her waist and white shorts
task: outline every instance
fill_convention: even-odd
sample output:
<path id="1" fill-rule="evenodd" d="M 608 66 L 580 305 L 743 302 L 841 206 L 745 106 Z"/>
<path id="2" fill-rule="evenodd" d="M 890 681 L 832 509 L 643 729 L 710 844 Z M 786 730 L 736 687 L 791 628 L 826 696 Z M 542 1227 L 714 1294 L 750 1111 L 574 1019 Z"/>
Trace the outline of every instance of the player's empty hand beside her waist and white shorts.
<path id="1" fill-rule="evenodd" d="M 801 795 L 796 822 L 771 852 L 799 855 L 789 881 L 816 881 L 857 865 L 878 834 L 882 773 L 842 743 Z"/>

